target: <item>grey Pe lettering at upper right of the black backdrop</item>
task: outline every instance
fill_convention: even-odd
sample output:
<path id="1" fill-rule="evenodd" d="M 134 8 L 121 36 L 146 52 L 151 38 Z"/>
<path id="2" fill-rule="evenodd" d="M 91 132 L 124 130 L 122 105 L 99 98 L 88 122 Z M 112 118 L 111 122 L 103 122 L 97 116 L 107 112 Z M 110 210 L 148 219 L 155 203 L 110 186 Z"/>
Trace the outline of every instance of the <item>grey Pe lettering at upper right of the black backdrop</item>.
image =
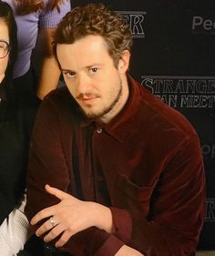
<path id="1" fill-rule="evenodd" d="M 195 34 L 215 35 L 215 20 L 203 15 L 194 15 L 191 29 Z"/>

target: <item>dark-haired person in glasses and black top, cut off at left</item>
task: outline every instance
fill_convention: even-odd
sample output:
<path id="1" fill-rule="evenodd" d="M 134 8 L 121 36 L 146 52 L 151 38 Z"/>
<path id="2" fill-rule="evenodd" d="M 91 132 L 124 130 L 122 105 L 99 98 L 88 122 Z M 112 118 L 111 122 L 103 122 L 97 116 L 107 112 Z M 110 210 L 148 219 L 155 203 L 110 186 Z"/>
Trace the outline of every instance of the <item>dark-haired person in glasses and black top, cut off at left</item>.
<path id="1" fill-rule="evenodd" d="M 16 57 L 16 24 L 10 5 L 0 1 L 0 255 L 12 256 L 29 238 L 26 166 L 36 103 L 15 95 L 12 73 Z M 24 255 L 24 254 L 23 254 Z"/>

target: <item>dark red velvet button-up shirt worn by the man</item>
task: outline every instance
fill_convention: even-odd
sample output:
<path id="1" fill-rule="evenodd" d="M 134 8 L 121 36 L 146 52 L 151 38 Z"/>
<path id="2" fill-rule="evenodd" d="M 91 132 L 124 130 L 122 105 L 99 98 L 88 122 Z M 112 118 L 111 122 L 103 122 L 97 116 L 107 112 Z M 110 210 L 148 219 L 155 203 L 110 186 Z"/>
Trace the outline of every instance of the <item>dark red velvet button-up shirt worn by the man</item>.
<path id="1" fill-rule="evenodd" d="M 196 249 L 205 200 L 199 138 L 186 118 L 132 78 L 126 106 L 108 124 L 87 119 L 67 87 L 45 98 L 29 160 L 29 220 L 58 202 L 45 184 L 110 207 L 113 232 L 77 233 L 64 247 L 76 256 L 112 256 L 123 244 L 146 256 Z"/>

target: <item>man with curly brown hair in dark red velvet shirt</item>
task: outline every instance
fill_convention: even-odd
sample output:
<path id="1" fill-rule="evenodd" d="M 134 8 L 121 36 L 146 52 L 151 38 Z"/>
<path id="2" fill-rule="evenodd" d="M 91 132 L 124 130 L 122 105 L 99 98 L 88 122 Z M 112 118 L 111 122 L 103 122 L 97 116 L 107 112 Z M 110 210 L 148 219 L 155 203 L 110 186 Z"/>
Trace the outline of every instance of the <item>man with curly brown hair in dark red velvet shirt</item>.
<path id="1" fill-rule="evenodd" d="M 54 53 L 67 87 L 36 118 L 26 215 L 37 236 L 72 255 L 194 255 L 199 138 L 129 77 L 130 46 L 123 18 L 103 5 L 77 7 L 59 24 Z"/>

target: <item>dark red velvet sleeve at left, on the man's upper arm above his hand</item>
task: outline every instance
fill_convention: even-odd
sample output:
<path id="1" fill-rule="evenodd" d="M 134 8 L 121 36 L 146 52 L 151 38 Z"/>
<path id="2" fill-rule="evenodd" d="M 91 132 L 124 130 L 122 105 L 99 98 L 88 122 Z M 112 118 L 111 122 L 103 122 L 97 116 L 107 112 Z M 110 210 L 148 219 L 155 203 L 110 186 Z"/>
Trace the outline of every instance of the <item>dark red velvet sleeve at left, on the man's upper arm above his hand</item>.
<path id="1" fill-rule="evenodd" d="M 58 203 L 56 198 L 46 193 L 46 184 L 63 191 L 67 191 L 69 185 L 58 117 L 55 108 L 48 102 L 41 104 L 37 111 L 30 144 L 25 209 L 28 220 L 31 220 L 37 211 Z"/>

